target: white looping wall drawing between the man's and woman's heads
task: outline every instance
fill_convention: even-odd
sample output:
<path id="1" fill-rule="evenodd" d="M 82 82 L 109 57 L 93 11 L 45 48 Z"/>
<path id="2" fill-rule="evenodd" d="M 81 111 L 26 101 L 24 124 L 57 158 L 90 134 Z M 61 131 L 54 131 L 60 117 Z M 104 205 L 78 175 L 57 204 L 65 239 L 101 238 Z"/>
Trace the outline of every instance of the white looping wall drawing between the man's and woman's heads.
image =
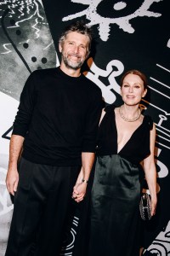
<path id="1" fill-rule="evenodd" d="M 102 90 L 102 96 L 105 102 L 112 104 L 116 101 L 116 95 L 111 90 L 115 90 L 116 93 L 120 94 L 120 85 L 116 82 L 116 77 L 121 75 L 124 66 L 121 61 L 112 60 L 107 64 L 106 70 L 97 67 L 93 61 L 93 58 L 88 59 L 88 67 L 90 67 L 90 72 L 85 73 L 86 77 L 92 80 L 95 84 L 99 86 Z M 113 70 L 116 67 L 117 71 Z M 99 77 L 107 78 L 109 84 L 105 85 L 99 80 Z"/>

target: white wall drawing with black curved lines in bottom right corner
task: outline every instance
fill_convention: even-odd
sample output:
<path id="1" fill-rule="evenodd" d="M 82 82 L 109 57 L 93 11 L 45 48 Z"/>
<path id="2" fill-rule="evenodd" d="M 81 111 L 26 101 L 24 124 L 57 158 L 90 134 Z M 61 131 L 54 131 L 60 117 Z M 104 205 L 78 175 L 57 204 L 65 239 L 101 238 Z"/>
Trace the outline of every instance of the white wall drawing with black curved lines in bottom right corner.
<path id="1" fill-rule="evenodd" d="M 157 256 L 167 256 L 170 254 L 170 221 L 167 223 L 165 230 L 156 236 L 156 239 L 147 248 L 147 251 L 156 253 Z"/>

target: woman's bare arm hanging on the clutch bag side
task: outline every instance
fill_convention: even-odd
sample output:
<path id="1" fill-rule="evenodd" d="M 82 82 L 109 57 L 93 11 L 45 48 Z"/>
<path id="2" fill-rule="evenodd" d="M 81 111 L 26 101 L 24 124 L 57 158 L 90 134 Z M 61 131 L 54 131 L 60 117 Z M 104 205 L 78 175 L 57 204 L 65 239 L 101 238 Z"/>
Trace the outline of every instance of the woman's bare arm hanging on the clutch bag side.
<path id="1" fill-rule="evenodd" d="M 153 124 L 153 129 L 150 131 L 150 155 L 144 159 L 144 173 L 148 183 L 151 196 L 151 216 L 156 214 L 156 164 L 154 160 L 154 148 L 156 142 L 156 125 Z"/>

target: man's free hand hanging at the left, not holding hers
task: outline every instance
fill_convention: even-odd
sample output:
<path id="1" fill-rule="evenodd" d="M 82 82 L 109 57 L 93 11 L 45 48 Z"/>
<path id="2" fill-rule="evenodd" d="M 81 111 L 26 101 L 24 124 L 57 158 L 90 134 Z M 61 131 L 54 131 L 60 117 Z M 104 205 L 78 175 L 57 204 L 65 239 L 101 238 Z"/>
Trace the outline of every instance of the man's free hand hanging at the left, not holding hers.
<path id="1" fill-rule="evenodd" d="M 7 177 L 6 177 L 6 185 L 8 192 L 11 195 L 14 195 L 14 193 L 17 190 L 19 183 L 19 173 L 17 169 L 8 169 Z"/>

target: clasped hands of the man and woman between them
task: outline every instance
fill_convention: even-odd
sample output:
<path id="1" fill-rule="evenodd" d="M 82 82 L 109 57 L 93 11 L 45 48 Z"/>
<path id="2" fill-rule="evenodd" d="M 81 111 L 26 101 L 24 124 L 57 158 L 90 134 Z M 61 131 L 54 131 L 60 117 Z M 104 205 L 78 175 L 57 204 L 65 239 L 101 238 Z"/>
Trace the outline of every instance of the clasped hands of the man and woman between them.
<path id="1" fill-rule="evenodd" d="M 86 189 L 87 189 L 88 181 L 82 179 L 82 183 L 76 183 L 76 185 L 73 188 L 72 192 L 72 199 L 74 199 L 77 202 L 80 202 L 84 199 L 84 196 L 86 195 Z"/>

